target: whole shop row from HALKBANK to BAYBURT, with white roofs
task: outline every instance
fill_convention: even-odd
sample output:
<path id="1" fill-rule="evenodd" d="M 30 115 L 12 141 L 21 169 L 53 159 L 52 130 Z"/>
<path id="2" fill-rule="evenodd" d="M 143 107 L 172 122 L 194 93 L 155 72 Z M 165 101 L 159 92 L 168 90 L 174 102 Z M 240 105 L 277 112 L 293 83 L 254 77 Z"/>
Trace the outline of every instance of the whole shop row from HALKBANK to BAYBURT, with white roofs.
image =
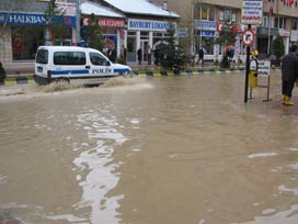
<path id="1" fill-rule="evenodd" d="M 148 0 L 56 0 L 55 12 L 50 12 L 49 3 L 50 0 L 1 0 L 0 61 L 4 68 L 32 67 L 41 45 L 88 42 L 84 31 L 91 14 L 102 26 L 105 47 L 101 51 L 114 46 L 119 57 L 125 47 L 127 63 L 137 63 L 137 52 L 141 49 L 145 63 L 148 48 L 153 52 L 165 43 L 170 21 L 177 26 L 180 19 L 177 13 Z"/>

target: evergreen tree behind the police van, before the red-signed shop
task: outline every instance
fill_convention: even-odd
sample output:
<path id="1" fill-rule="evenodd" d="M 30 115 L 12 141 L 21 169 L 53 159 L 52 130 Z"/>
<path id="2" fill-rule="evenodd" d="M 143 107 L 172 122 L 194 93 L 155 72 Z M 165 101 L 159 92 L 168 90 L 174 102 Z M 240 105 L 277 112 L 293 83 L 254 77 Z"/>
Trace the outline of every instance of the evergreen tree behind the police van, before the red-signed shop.
<path id="1" fill-rule="evenodd" d="M 103 48 L 102 27 L 99 24 L 99 19 L 93 13 L 90 16 L 87 32 L 82 37 L 89 43 L 90 47 L 100 51 Z"/>

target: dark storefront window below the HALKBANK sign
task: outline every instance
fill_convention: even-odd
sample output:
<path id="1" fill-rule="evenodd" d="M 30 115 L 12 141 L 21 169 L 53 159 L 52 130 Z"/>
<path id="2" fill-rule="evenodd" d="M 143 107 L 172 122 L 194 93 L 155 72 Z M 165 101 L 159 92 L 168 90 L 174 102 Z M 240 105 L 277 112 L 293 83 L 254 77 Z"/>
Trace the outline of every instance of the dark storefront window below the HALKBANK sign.
<path id="1" fill-rule="evenodd" d="M 34 59 L 38 46 L 44 45 L 44 27 L 12 26 L 13 60 Z"/>

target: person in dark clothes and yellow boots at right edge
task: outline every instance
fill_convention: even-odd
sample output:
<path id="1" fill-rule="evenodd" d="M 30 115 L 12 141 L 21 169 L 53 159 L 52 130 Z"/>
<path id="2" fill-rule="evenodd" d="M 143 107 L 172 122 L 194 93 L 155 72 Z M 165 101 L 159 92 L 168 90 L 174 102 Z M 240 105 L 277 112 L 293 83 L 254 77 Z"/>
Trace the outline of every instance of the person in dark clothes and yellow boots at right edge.
<path id="1" fill-rule="evenodd" d="M 290 101 L 295 82 L 298 79 L 298 47 L 293 45 L 290 53 L 282 59 L 282 92 L 284 105 L 294 105 Z"/>

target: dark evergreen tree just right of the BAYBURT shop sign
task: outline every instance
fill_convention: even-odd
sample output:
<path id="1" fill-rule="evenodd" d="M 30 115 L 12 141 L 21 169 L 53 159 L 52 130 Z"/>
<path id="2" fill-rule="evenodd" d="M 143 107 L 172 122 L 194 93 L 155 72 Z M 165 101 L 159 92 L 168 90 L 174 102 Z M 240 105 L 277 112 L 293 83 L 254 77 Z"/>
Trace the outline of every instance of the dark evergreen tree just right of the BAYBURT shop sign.
<path id="1" fill-rule="evenodd" d="M 168 44 L 160 45 L 160 53 L 163 54 L 161 66 L 167 69 L 179 69 L 185 65 L 185 57 L 182 48 L 175 44 L 175 30 L 170 23 L 168 30 Z"/>

